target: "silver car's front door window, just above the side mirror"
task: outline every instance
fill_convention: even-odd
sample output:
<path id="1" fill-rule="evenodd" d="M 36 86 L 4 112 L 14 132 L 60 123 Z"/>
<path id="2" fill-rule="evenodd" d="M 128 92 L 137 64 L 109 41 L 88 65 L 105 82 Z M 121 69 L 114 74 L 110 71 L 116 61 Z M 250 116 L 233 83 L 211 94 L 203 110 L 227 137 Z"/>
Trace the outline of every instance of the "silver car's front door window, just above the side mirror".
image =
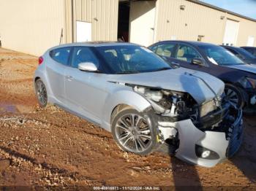
<path id="1" fill-rule="evenodd" d="M 95 57 L 94 53 L 91 52 L 89 47 L 75 47 L 71 66 L 74 68 L 78 68 L 79 63 L 94 63 L 96 66 L 99 66 L 99 62 Z"/>

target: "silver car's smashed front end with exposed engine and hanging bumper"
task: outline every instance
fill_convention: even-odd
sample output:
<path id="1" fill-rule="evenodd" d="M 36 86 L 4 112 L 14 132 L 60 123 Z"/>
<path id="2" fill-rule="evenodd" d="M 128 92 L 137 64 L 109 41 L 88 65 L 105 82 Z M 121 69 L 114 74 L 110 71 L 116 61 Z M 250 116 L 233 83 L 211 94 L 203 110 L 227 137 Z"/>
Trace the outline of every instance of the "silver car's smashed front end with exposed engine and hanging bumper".
<path id="1" fill-rule="evenodd" d="M 242 112 L 216 95 L 197 104 L 189 93 L 133 85 L 151 103 L 162 149 L 189 163 L 212 167 L 241 146 Z"/>

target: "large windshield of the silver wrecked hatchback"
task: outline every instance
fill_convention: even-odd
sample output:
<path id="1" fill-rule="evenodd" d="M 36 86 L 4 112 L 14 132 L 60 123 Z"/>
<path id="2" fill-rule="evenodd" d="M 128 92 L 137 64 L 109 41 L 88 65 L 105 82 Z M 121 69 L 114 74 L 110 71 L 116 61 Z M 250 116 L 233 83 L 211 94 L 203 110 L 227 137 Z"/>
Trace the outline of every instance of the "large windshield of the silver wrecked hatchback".
<path id="1" fill-rule="evenodd" d="M 112 74 L 130 74 L 171 69 L 154 52 L 136 45 L 96 47 Z"/>

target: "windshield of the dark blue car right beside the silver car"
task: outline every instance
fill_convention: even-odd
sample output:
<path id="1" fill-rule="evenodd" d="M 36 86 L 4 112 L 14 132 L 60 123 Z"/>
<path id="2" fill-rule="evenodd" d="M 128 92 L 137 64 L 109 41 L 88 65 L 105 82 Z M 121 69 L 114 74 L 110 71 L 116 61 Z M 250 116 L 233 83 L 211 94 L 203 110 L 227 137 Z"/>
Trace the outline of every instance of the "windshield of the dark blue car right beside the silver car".
<path id="1" fill-rule="evenodd" d="M 214 45 L 202 45 L 198 46 L 200 50 L 206 53 L 208 61 L 217 65 L 238 65 L 244 64 L 241 59 L 233 55 L 229 50 L 224 47 L 214 46 Z"/>

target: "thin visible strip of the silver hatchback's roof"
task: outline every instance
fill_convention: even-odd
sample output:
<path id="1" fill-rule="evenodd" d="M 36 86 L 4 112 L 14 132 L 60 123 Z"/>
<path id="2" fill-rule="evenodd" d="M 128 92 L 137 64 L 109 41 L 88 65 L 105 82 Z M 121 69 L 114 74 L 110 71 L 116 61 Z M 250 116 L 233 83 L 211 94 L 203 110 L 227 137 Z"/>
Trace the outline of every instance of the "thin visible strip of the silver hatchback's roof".
<path id="1" fill-rule="evenodd" d="M 135 45 L 138 44 L 129 43 L 129 42 L 102 42 L 102 41 L 94 41 L 94 42 L 74 42 L 69 44 L 61 44 L 56 47 L 50 48 L 50 50 L 60 48 L 60 47 L 107 47 L 107 46 L 126 46 L 126 45 Z"/>

